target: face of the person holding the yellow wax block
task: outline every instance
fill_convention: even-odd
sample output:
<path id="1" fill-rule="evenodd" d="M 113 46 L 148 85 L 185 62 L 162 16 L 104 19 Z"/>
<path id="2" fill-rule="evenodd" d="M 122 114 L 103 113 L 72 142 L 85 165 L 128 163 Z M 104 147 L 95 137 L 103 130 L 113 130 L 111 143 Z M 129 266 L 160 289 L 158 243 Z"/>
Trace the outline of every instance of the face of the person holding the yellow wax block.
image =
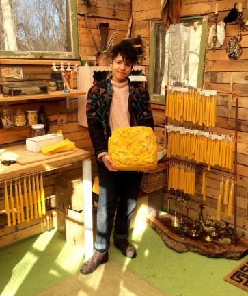
<path id="1" fill-rule="evenodd" d="M 132 63 L 126 60 L 123 60 L 120 53 L 116 58 L 113 59 L 110 63 L 110 67 L 112 70 L 112 79 L 114 82 L 125 82 L 128 75 L 132 70 Z"/>

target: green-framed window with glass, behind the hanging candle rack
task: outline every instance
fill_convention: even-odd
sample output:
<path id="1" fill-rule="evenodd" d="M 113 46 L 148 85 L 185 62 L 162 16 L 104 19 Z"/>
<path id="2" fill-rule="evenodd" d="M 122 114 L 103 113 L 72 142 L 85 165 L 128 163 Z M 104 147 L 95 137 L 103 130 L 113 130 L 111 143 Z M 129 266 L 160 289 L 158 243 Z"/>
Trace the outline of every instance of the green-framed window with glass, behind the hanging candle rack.
<path id="1" fill-rule="evenodd" d="M 149 93 L 152 103 L 165 103 L 165 86 L 202 87 L 206 17 L 183 18 L 165 31 L 152 22 Z"/>

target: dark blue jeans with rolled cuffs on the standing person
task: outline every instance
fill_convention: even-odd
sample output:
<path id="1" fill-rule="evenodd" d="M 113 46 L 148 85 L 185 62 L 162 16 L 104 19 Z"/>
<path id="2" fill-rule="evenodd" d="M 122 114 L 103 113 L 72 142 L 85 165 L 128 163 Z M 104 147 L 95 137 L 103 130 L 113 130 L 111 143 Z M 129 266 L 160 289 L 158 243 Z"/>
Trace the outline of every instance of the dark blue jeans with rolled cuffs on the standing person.
<path id="1" fill-rule="evenodd" d="M 130 220 L 137 203 L 142 173 L 137 171 L 111 172 L 104 164 L 98 164 L 98 176 L 100 193 L 95 248 L 108 249 L 114 217 L 113 237 L 128 238 Z"/>

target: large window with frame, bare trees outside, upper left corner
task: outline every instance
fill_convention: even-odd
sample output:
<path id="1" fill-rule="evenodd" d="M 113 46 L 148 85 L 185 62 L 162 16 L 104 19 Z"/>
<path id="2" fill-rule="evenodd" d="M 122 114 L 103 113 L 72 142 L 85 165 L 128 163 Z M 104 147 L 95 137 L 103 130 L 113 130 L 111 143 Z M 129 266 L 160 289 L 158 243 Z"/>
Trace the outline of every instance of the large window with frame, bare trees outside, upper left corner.
<path id="1" fill-rule="evenodd" d="M 0 1 L 1 58 L 77 58 L 76 0 Z"/>

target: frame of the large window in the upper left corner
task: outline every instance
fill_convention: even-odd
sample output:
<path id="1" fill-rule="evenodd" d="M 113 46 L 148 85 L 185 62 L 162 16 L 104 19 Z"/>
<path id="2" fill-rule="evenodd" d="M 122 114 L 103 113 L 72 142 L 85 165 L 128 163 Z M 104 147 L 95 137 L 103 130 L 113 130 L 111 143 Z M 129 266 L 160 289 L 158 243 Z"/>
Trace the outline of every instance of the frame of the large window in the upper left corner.
<path id="1" fill-rule="evenodd" d="M 72 51 L 0 51 L 0 59 L 56 59 L 56 60 L 78 60 L 79 41 L 77 32 L 77 0 L 70 0 L 70 25 L 72 37 Z"/>

